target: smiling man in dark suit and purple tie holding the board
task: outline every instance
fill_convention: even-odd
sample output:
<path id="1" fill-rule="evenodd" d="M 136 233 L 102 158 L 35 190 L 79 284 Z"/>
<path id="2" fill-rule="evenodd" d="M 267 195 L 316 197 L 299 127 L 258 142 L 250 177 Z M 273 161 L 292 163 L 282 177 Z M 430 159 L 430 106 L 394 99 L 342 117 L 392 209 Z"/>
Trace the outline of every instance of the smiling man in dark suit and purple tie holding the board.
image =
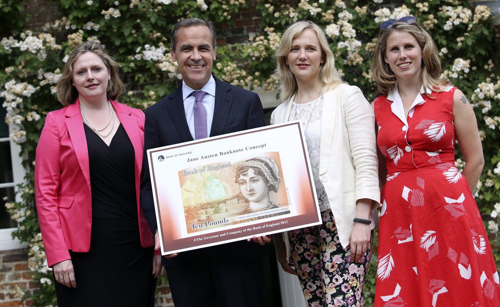
<path id="1" fill-rule="evenodd" d="M 211 74 L 215 44 L 211 22 L 190 18 L 173 28 L 170 54 L 178 64 L 182 84 L 146 109 L 144 151 L 264 126 L 262 105 L 255 93 L 224 83 Z M 193 95 L 197 91 L 205 92 L 201 99 Z M 199 104 L 206 124 L 199 124 Z M 147 158 L 140 198 L 159 248 Z M 262 306 L 262 244 L 270 238 L 253 240 L 259 244 L 242 240 L 162 257 L 175 307 Z"/>

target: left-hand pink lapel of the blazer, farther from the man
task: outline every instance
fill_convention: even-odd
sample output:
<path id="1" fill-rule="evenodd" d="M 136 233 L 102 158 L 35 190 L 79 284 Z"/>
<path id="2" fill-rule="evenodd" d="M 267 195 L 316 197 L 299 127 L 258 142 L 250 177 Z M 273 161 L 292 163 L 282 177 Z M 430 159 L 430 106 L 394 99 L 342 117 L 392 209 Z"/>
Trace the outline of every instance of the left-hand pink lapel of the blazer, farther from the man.
<path id="1" fill-rule="evenodd" d="M 78 164 L 90 188 L 90 170 L 88 166 L 88 148 L 83 130 L 83 121 L 80 113 L 80 102 L 78 99 L 66 109 L 66 126 L 73 145 L 74 153 L 78 159 Z"/>

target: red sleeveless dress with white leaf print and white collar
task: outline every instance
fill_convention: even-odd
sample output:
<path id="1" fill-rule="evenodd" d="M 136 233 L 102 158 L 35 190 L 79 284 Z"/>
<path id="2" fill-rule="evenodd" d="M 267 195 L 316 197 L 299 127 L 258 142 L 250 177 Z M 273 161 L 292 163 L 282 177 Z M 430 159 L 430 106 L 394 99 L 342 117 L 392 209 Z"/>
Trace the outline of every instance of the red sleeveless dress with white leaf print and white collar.
<path id="1" fill-rule="evenodd" d="M 500 306 L 484 225 L 454 164 L 454 91 L 417 95 L 407 116 L 397 88 L 373 103 L 387 167 L 375 306 Z"/>

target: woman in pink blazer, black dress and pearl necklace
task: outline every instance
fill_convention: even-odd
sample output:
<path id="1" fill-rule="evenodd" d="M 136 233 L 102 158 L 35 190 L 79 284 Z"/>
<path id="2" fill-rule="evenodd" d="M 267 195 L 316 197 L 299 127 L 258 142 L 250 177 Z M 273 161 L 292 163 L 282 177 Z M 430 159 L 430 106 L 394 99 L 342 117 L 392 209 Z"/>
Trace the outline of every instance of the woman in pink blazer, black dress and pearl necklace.
<path id="1" fill-rule="evenodd" d="M 36 147 L 35 197 L 59 306 L 152 306 L 164 272 L 139 204 L 144 114 L 113 100 L 116 62 L 76 47 Z M 78 285 L 78 286 L 77 286 Z"/>

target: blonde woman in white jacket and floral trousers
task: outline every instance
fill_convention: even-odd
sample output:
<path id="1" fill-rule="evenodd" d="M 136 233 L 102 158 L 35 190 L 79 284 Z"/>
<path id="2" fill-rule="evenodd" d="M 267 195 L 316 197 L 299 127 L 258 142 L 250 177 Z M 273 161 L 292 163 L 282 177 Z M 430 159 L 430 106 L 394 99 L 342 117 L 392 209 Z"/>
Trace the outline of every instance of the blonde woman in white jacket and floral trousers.
<path id="1" fill-rule="evenodd" d="M 314 23 L 290 25 L 275 57 L 282 103 L 271 124 L 301 121 L 322 216 L 320 225 L 273 236 L 278 261 L 298 275 L 309 306 L 362 305 L 380 199 L 373 111 L 342 83 Z"/>

